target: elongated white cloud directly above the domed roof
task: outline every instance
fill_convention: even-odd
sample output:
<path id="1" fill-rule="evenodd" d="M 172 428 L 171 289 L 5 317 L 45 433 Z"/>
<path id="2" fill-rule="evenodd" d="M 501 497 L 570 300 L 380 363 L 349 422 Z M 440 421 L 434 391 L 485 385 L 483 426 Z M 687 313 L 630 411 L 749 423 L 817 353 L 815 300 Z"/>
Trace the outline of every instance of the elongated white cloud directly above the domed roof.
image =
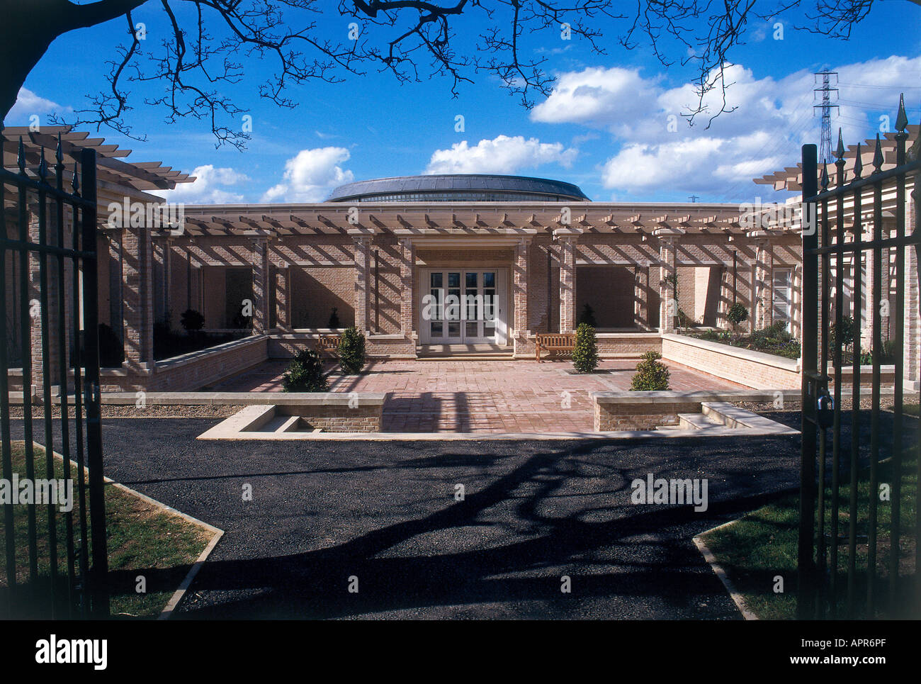
<path id="1" fill-rule="evenodd" d="M 429 159 L 426 173 L 514 173 L 541 164 L 572 166 L 578 150 L 562 143 L 542 143 L 537 138 L 496 136 L 470 147 L 466 140 L 450 149 L 437 149 Z"/>

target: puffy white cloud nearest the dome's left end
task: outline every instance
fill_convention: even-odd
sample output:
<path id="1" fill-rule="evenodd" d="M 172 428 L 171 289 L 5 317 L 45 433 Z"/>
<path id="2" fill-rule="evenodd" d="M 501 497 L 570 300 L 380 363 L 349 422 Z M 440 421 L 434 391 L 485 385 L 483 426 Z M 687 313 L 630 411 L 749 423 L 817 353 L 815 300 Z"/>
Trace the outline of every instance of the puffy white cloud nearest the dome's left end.
<path id="1" fill-rule="evenodd" d="M 269 188 L 262 202 L 321 202 L 337 185 L 355 180 L 340 166 L 350 156 L 344 147 L 300 150 L 285 162 L 282 182 Z"/>

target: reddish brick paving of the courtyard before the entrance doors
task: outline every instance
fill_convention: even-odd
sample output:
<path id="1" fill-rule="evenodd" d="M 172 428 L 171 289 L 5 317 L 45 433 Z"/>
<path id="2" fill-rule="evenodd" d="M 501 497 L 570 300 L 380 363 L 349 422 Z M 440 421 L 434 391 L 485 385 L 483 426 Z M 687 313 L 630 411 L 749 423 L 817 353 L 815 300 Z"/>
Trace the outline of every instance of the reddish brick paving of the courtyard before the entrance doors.
<path id="1" fill-rule="evenodd" d="M 332 392 L 381 392 L 387 432 L 575 432 L 592 430 L 591 393 L 630 388 L 637 361 L 602 360 L 575 375 L 569 361 L 372 361 L 361 375 L 330 376 Z M 742 385 L 667 364 L 676 391 Z M 280 392 L 287 361 L 274 360 L 212 389 Z"/>

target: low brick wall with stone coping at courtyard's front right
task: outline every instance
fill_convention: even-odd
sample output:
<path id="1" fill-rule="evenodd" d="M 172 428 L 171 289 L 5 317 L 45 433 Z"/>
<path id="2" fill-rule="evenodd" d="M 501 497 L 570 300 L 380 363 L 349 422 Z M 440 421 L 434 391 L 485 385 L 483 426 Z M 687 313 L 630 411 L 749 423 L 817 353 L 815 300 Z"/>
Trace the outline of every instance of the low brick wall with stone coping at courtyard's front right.
<path id="1" fill-rule="evenodd" d="M 794 408 L 799 391 L 725 390 L 713 392 L 593 392 L 595 431 L 655 430 L 677 425 L 679 413 L 700 413 L 705 401 L 725 401 L 755 408 Z"/>

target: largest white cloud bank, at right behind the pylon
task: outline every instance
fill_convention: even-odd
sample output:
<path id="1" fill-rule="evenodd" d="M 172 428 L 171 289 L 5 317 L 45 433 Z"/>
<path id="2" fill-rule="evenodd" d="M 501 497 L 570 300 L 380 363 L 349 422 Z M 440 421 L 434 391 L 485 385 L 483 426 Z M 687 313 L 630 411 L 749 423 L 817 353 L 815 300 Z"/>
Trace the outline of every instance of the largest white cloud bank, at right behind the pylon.
<path id="1" fill-rule="evenodd" d="M 879 129 L 883 114 L 891 117 L 892 129 L 899 93 L 916 88 L 921 77 L 921 57 L 892 56 L 834 70 L 839 111 L 837 116 L 833 112 L 832 125 L 841 126 L 845 144 L 856 144 Z M 601 166 L 606 188 L 744 200 L 759 190 L 770 192 L 751 183 L 752 178 L 795 164 L 803 143 L 819 141 L 820 119 L 812 109 L 816 84 L 811 70 L 756 78 L 741 65 L 729 66 L 726 80 L 732 84 L 726 108 L 736 109 L 718 116 L 709 128 L 709 114 L 698 116 L 690 127 L 681 116 L 697 101 L 690 84 L 666 88 L 659 77 L 644 78 L 637 69 L 619 67 L 561 75 L 531 119 L 608 131 L 620 148 Z M 705 106 L 711 113 L 720 110 L 718 88 L 707 95 Z"/>

